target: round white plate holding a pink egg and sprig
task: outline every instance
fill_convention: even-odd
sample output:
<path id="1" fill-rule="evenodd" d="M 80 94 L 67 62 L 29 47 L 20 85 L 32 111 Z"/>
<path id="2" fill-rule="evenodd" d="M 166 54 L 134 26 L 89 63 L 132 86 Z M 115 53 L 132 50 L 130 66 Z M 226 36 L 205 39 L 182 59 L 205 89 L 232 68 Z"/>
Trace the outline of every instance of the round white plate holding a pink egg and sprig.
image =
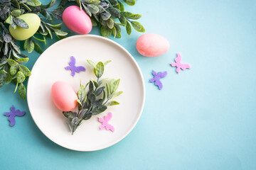
<path id="1" fill-rule="evenodd" d="M 76 66 L 82 65 L 85 72 L 70 76 L 64 69 L 70 62 L 70 56 L 76 58 Z M 120 78 L 121 96 L 114 98 L 119 106 L 110 106 L 104 113 L 86 120 L 71 135 L 67 119 L 55 107 L 51 98 L 51 86 L 55 81 L 65 81 L 78 91 L 80 81 L 86 84 L 95 78 L 92 67 L 86 60 L 95 63 L 112 60 L 105 67 L 103 77 Z M 60 40 L 48 47 L 33 66 L 28 80 L 28 108 L 38 128 L 56 144 L 78 151 L 95 151 L 110 147 L 122 140 L 137 124 L 144 107 L 145 88 L 142 72 L 132 55 L 121 45 L 97 35 L 75 35 Z M 98 117 L 112 112 L 109 121 L 115 131 L 100 130 Z"/>

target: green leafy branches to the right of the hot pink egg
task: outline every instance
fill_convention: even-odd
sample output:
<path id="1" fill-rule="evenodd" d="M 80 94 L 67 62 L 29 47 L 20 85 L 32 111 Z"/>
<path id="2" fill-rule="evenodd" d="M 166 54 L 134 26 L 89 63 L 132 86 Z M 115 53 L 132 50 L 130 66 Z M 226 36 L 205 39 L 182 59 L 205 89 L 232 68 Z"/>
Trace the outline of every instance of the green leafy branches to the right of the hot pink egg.
<path id="1" fill-rule="evenodd" d="M 63 0 L 61 6 L 66 3 Z M 142 17 L 141 14 L 134 14 L 124 11 L 124 4 L 119 0 L 69 0 L 75 1 L 81 9 L 83 9 L 92 21 L 92 26 L 99 26 L 102 36 L 108 38 L 114 35 L 114 38 L 121 38 L 121 28 L 124 26 L 127 34 L 132 33 L 132 27 L 138 32 L 144 33 L 145 28 L 138 21 Z M 129 6 L 134 6 L 135 0 L 124 0 Z"/>

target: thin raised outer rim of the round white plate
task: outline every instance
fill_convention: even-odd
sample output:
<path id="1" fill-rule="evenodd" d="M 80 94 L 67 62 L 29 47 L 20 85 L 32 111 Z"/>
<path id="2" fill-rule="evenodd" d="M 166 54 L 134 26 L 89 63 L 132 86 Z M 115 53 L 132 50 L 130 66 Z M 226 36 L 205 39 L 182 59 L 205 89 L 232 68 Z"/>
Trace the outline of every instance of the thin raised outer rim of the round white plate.
<path id="1" fill-rule="evenodd" d="M 92 152 L 92 151 L 97 151 L 97 150 L 102 150 L 102 149 L 106 149 L 108 147 L 112 147 L 113 145 L 117 144 L 118 142 L 120 142 L 121 140 L 124 139 L 124 137 L 127 137 L 127 135 L 129 135 L 129 133 L 134 129 L 134 127 L 137 125 L 137 123 L 139 122 L 139 119 L 141 118 L 142 116 L 142 112 L 143 112 L 143 109 L 144 109 L 144 105 L 145 105 L 145 98 L 146 98 L 146 88 L 145 88 L 145 83 L 144 83 L 144 77 L 143 77 L 143 74 L 142 74 L 142 70 L 140 69 L 139 67 L 139 64 L 137 63 L 137 61 L 134 59 L 134 57 L 132 57 L 132 55 L 128 52 L 128 50 L 126 50 L 124 47 L 122 47 L 122 45 L 119 45 L 119 43 L 115 42 L 114 40 L 110 40 L 109 38 L 105 38 L 105 37 L 102 37 L 100 35 L 73 35 L 73 36 L 70 36 L 68 38 L 65 38 L 63 40 L 58 40 L 57 42 L 53 43 L 52 45 L 50 45 L 46 50 L 50 49 L 50 48 L 53 48 L 55 47 L 55 45 L 58 45 L 59 43 L 62 43 L 63 41 L 66 41 L 66 40 L 70 40 L 70 39 L 75 39 L 75 38 L 98 38 L 98 39 L 101 39 L 101 40 L 107 40 L 108 42 L 114 44 L 114 45 L 117 45 L 118 47 L 120 47 L 122 50 L 124 50 L 124 52 L 127 53 L 127 55 L 129 55 L 129 57 L 132 59 L 132 61 L 134 62 L 135 64 L 135 67 L 137 67 L 138 71 L 139 71 L 139 77 L 142 79 L 142 93 L 143 93 L 143 96 L 142 96 L 142 106 L 140 107 L 139 109 L 139 115 L 137 116 L 137 119 L 134 121 L 134 123 L 132 123 L 132 127 L 129 128 L 129 130 L 127 130 L 127 132 L 124 133 L 124 135 L 121 135 L 121 137 L 119 137 L 118 140 L 115 140 L 114 142 L 111 142 L 110 145 L 107 145 L 105 147 L 100 147 L 98 149 L 73 149 L 71 147 L 66 147 L 66 146 L 63 146 L 61 145 L 60 143 L 57 143 L 55 141 L 53 141 L 50 137 L 48 137 L 48 135 L 46 135 L 43 130 L 41 130 L 41 128 L 38 126 L 35 118 L 33 117 L 33 114 L 31 114 L 31 106 L 29 104 L 29 95 L 30 92 L 29 92 L 29 86 L 30 86 L 30 80 L 31 80 L 31 77 L 28 78 L 28 84 L 27 84 L 27 103 L 28 103 L 28 110 L 29 110 L 29 113 L 31 114 L 31 117 L 34 121 L 34 123 L 36 123 L 36 126 L 38 127 L 38 129 L 43 133 L 43 135 L 45 135 L 46 137 L 48 137 L 48 139 L 52 142 L 54 142 L 55 144 L 59 145 L 60 147 L 64 147 L 66 149 L 70 149 L 70 150 L 75 150 L 75 151 L 80 151 L 80 152 Z M 46 50 L 38 57 L 38 59 L 36 60 L 36 62 L 33 64 L 33 67 L 31 69 L 31 73 L 33 72 L 33 68 L 36 67 L 36 65 L 38 64 L 38 62 L 40 62 L 40 57 L 46 52 Z"/>

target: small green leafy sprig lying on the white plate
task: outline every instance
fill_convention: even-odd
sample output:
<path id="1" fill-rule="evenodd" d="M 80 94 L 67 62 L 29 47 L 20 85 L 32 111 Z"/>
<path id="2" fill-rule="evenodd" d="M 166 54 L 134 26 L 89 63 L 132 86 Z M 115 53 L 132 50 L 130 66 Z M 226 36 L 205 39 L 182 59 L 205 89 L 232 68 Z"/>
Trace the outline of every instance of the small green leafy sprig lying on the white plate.
<path id="1" fill-rule="evenodd" d="M 87 60 L 87 62 L 93 67 L 93 72 L 97 79 L 91 79 L 85 86 L 80 84 L 80 89 L 78 90 L 78 112 L 63 112 L 63 115 L 68 118 L 68 126 L 72 135 L 81 125 L 82 120 L 89 120 L 92 115 L 106 111 L 108 106 L 119 105 L 117 101 L 112 101 L 112 98 L 123 93 L 123 91 L 117 91 L 120 79 L 111 79 L 109 82 L 105 81 L 106 79 L 104 78 L 102 79 L 105 66 L 111 60 L 104 63 L 98 62 L 97 64 L 91 60 Z M 86 90 L 87 86 L 88 90 Z"/>

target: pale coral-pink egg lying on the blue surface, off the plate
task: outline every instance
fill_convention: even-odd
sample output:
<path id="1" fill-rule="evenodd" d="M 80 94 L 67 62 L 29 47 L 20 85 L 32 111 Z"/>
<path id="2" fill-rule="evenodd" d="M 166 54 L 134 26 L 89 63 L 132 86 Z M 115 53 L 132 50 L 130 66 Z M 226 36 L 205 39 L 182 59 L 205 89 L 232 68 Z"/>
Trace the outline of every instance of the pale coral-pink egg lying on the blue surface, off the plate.
<path id="1" fill-rule="evenodd" d="M 169 50 L 170 44 L 161 35 L 147 33 L 138 38 L 136 47 L 141 55 L 156 57 L 164 55 Z"/>

